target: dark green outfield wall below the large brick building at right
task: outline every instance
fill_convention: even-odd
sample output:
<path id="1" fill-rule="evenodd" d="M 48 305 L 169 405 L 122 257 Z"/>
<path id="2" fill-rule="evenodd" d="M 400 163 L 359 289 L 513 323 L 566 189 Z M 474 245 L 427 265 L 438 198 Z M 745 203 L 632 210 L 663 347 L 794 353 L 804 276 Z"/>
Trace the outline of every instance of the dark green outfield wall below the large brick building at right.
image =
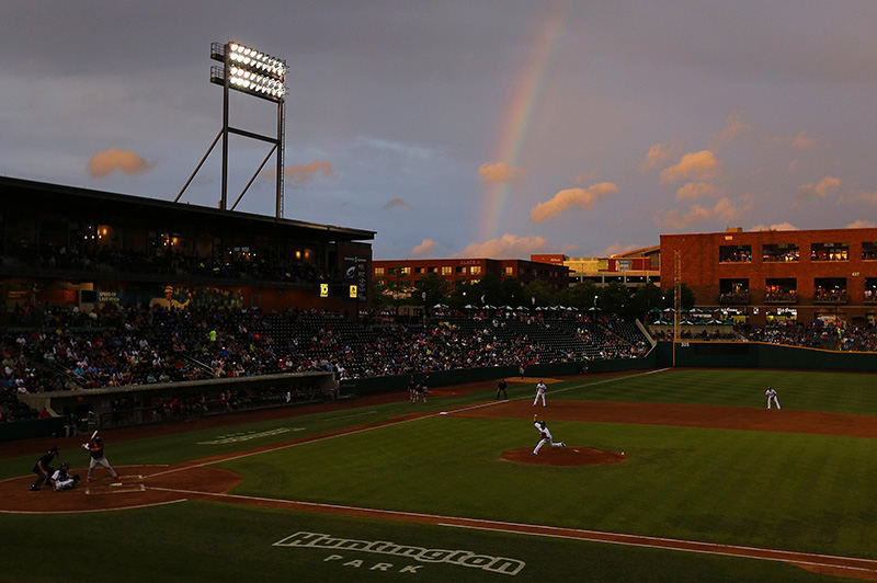
<path id="1" fill-rule="evenodd" d="M 673 365 L 673 343 L 659 342 L 658 366 Z M 676 345 L 676 366 L 877 371 L 877 353 L 839 352 L 763 342 L 697 342 Z"/>

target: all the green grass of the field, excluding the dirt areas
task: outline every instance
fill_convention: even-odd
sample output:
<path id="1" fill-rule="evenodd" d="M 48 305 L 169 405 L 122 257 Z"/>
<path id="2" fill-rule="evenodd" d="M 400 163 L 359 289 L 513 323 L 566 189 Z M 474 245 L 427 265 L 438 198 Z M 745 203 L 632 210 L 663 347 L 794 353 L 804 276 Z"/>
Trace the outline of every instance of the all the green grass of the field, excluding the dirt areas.
<path id="1" fill-rule="evenodd" d="M 674 370 L 553 384 L 548 399 L 763 407 L 766 386 L 786 409 L 877 415 L 873 375 Z M 286 418 L 132 442 L 107 439 L 112 462 L 174 464 L 493 399 L 493 390 Z M 532 399 L 529 385 L 511 386 Z M 877 422 L 877 419 L 875 419 Z M 253 439 L 213 443 L 276 432 Z M 435 415 L 223 464 L 243 475 L 236 493 L 353 506 L 877 558 L 873 484 L 877 439 L 698 427 L 554 422 L 570 445 L 625 450 L 624 464 L 546 467 L 500 460 L 532 447 L 528 420 Z M 66 456 L 65 454 L 69 454 Z M 62 453 L 76 465 L 81 451 Z M 0 460 L 0 478 L 29 473 L 34 456 Z M 134 511 L 0 515 L 0 581 L 392 581 L 413 576 L 326 561 L 271 544 L 296 530 L 391 539 L 524 560 L 514 581 L 825 581 L 768 561 L 640 549 L 460 528 L 398 524 L 223 504 Z M 83 533 L 105 541 L 83 549 Z M 8 535 L 9 534 L 9 535 Z M 88 538 L 88 537 L 87 537 Z M 92 537 L 93 538 L 93 537 Z M 88 540 L 92 540 L 88 538 Z M 35 542 L 35 541 L 38 541 Z M 49 553 L 64 574 L 35 572 Z M 356 556 L 365 563 L 380 557 Z M 389 561 L 392 562 L 392 561 Z M 364 563 L 364 564 L 365 564 Z M 7 569 L 7 565 L 11 565 Z M 42 579 L 41 579 L 42 576 Z M 418 581 L 506 580 L 430 564 Z"/>

